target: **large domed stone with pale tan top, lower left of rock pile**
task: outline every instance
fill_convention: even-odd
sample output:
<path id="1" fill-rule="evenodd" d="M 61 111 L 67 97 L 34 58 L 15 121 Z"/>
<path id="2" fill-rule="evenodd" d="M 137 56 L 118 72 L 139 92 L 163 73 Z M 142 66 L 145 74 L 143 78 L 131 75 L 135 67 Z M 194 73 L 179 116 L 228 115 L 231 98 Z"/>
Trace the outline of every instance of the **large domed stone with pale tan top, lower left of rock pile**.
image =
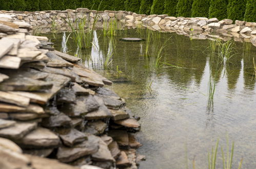
<path id="1" fill-rule="evenodd" d="M 45 128 L 37 128 L 18 140 L 24 146 L 34 147 L 55 147 L 60 144 L 60 138 Z"/>

